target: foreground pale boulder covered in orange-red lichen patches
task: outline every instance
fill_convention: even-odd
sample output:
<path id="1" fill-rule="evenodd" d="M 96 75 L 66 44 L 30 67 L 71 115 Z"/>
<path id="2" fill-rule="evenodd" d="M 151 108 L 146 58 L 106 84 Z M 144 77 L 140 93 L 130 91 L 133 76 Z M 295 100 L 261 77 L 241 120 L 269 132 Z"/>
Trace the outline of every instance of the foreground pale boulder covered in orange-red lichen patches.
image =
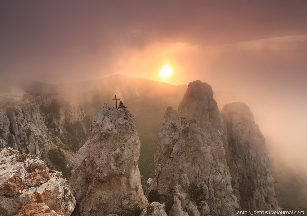
<path id="1" fill-rule="evenodd" d="M 0 215 L 70 215 L 76 205 L 62 173 L 12 148 L 0 149 Z"/>

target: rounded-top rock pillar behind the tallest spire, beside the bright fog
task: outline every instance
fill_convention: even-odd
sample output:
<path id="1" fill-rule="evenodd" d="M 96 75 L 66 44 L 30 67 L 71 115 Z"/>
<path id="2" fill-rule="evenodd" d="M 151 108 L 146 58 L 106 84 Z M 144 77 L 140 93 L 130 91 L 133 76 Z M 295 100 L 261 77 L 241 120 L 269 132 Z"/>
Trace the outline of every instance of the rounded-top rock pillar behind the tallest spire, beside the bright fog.
<path id="1" fill-rule="evenodd" d="M 265 138 L 249 107 L 237 102 L 226 104 L 221 114 L 227 128 L 227 163 L 240 210 L 280 211 Z"/>

